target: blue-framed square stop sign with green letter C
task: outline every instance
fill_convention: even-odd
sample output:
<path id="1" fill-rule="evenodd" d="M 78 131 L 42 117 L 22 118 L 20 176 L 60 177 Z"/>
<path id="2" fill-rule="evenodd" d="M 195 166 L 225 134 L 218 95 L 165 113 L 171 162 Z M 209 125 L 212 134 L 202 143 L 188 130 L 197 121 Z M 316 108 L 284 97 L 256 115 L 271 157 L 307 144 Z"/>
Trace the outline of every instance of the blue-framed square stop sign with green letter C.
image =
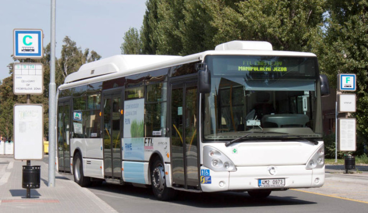
<path id="1" fill-rule="evenodd" d="M 42 29 L 14 29 L 13 49 L 15 58 L 42 58 Z"/>

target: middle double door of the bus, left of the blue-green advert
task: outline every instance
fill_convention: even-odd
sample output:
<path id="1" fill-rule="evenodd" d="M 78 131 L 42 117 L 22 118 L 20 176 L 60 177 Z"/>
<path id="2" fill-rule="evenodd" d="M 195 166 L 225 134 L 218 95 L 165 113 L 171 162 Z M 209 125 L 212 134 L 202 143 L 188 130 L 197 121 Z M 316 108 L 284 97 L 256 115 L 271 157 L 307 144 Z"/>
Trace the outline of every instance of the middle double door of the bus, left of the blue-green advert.
<path id="1" fill-rule="evenodd" d="M 121 93 L 104 93 L 102 103 L 105 177 L 121 179 Z"/>

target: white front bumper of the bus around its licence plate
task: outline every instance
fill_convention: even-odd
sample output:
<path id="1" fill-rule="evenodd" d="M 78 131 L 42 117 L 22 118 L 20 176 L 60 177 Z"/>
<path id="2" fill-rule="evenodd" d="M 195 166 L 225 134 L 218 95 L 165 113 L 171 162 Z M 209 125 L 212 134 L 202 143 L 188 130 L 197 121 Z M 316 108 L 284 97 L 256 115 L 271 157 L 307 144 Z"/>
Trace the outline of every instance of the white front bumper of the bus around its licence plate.
<path id="1" fill-rule="evenodd" d="M 272 170 L 272 172 L 269 170 Z M 318 169 L 306 169 L 305 165 L 237 166 L 235 172 L 214 172 L 201 166 L 200 183 L 204 192 L 309 188 L 323 185 L 324 172 L 324 166 Z M 273 173 L 273 175 L 270 173 Z M 259 180 L 280 179 L 284 181 L 280 186 L 259 186 Z"/>

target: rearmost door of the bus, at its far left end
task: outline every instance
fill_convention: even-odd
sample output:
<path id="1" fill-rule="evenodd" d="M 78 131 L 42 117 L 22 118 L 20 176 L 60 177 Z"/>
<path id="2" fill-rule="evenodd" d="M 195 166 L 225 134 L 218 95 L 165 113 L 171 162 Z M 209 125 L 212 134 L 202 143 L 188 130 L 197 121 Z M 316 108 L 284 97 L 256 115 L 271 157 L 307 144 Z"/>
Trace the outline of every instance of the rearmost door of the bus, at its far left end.
<path id="1" fill-rule="evenodd" d="M 58 170 L 70 172 L 70 100 L 57 105 L 57 161 Z"/>

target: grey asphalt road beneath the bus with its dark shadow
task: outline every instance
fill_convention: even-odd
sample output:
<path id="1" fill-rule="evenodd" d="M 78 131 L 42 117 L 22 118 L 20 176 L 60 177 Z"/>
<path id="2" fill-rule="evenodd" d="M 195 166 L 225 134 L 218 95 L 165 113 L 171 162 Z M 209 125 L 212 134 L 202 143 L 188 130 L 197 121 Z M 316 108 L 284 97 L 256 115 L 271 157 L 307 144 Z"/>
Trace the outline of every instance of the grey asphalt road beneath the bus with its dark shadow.
<path id="1" fill-rule="evenodd" d="M 48 158 L 44 158 L 48 162 Z M 72 175 L 64 174 L 73 180 Z M 326 178 L 329 175 L 326 175 Z M 332 178 L 333 179 L 333 178 Z M 337 183 L 339 185 L 339 182 Z M 325 185 L 329 185 L 326 180 Z M 351 187 L 354 187 L 352 185 Z M 300 189 L 273 191 L 266 199 L 251 198 L 246 192 L 189 193 L 180 192 L 176 200 L 156 200 L 151 188 L 120 186 L 103 183 L 88 187 L 119 213 L 347 213 L 368 212 L 368 202 L 342 199 L 318 190 Z M 354 190 L 354 189 L 352 189 Z M 324 194 L 325 193 L 325 194 Z M 368 196 L 368 191 L 366 193 Z"/>

